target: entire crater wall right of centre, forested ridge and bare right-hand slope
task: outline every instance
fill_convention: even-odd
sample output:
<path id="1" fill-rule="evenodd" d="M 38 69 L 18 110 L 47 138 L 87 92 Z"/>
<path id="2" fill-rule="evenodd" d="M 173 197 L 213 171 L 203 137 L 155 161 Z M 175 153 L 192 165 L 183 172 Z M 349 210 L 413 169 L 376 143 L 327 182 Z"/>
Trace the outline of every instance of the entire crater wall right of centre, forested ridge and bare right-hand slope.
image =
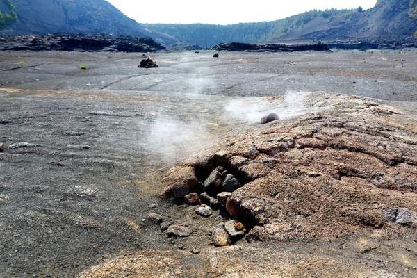
<path id="1" fill-rule="evenodd" d="M 212 47 L 220 42 L 373 41 L 368 47 L 414 47 L 417 42 L 417 2 L 380 0 L 369 10 L 311 10 L 274 22 L 213 24 L 147 24 L 188 43 Z M 388 42 L 387 42 L 388 40 Z M 393 44 L 395 42 L 395 44 Z M 412 45 L 414 43 L 414 45 Z M 376 46 L 375 46 L 376 44 Z M 385 45 L 384 45 L 385 44 Z M 338 44 L 343 47 L 343 44 Z M 350 44 L 351 48 L 352 44 Z M 361 48 L 361 47 L 358 47 Z"/>

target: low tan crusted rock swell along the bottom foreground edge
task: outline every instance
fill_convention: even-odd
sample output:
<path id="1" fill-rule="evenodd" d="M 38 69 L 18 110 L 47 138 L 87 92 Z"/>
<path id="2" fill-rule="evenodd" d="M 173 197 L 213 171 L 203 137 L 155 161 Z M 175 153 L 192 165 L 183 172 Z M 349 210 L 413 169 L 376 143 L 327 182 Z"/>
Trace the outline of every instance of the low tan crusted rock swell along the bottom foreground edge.
<path id="1" fill-rule="evenodd" d="M 349 240 L 341 250 L 322 243 L 300 243 L 297 248 L 254 243 L 208 248 L 197 255 L 145 250 L 117 256 L 78 277 L 416 277 L 414 254 L 392 247 L 398 242 L 376 242 Z M 370 263 L 357 263 L 358 254 L 373 250 L 377 254 Z M 396 270 L 381 267 L 385 260 Z"/>

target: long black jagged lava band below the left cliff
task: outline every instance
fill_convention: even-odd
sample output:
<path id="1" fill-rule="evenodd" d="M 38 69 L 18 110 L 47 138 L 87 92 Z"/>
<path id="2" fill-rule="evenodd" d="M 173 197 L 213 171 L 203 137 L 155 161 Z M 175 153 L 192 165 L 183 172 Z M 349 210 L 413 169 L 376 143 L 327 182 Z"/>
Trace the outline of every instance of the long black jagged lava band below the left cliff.
<path id="1" fill-rule="evenodd" d="M 56 33 L 0 37 L 0 50 L 154 52 L 165 47 L 147 37 Z"/>

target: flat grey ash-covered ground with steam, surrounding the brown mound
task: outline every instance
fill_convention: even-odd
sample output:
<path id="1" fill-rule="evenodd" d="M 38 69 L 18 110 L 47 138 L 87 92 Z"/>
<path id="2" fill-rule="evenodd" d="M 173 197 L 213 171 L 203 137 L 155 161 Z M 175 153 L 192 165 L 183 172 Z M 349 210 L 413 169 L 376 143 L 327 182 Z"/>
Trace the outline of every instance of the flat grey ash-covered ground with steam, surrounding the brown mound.
<path id="1" fill-rule="evenodd" d="M 270 112 L 286 119 L 331 108 L 300 92 L 417 113 L 412 49 L 212 56 L 152 54 L 159 67 L 142 69 L 142 54 L 0 53 L 1 277 L 72 277 L 135 250 L 213 248 L 216 215 L 161 202 L 161 178 Z M 284 101 L 265 98 L 275 96 Z M 152 211 L 188 222 L 193 234 L 168 238 L 147 220 Z"/>

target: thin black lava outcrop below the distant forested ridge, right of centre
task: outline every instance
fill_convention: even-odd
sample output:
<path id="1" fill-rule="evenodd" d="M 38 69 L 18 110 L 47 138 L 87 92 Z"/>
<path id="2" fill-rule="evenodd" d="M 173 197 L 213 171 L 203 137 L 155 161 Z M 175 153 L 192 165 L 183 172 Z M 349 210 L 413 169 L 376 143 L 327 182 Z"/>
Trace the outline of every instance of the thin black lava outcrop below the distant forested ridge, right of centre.
<path id="1" fill-rule="evenodd" d="M 247 51 L 247 52 L 293 52 L 293 51 L 330 51 L 327 44 L 247 44 L 241 42 L 221 43 L 211 50 Z"/>

